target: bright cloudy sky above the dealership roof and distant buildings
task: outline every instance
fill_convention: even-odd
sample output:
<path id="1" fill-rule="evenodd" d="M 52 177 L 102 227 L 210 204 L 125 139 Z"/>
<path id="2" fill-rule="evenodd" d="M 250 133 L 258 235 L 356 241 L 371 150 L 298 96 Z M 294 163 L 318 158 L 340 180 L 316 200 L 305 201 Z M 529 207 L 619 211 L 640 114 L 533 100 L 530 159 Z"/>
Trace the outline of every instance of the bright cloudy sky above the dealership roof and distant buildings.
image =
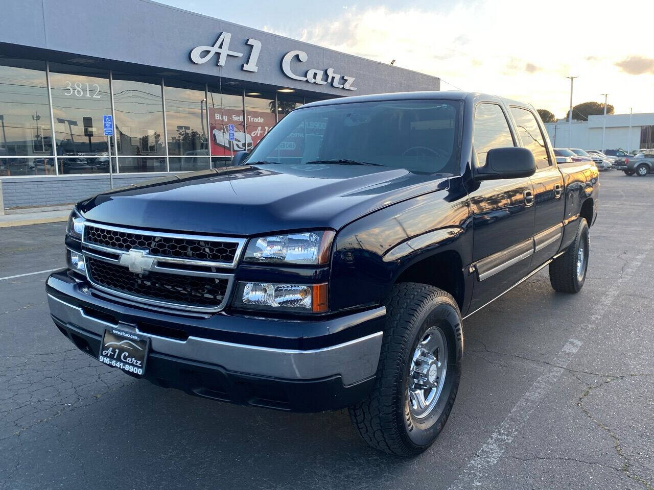
<path id="1" fill-rule="evenodd" d="M 563 118 L 570 104 L 654 112 L 654 1 L 160 0 L 441 78 Z M 218 7 L 220 6 L 220 7 Z"/>

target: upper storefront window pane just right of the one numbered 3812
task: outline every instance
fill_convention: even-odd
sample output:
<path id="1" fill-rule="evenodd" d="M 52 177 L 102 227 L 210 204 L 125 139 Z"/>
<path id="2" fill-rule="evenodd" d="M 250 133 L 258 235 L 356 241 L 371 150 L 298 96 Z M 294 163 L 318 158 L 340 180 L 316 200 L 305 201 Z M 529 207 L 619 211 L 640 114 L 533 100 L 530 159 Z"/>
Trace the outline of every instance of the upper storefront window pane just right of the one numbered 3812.
<path id="1" fill-rule="evenodd" d="M 114 73 L 113 89 L 118 155 L 165 155 L 161 79 Z"/>

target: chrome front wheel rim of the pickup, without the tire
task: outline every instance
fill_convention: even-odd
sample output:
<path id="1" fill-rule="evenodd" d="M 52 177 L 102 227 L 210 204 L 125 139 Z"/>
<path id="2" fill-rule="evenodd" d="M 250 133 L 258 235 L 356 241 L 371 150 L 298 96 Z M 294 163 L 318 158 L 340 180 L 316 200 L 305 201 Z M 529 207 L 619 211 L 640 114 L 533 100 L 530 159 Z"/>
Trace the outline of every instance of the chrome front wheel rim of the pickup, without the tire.
<path id="1" fill-rule="evenodd" d="M 443 391 L 447 373 L 447 340 L 438 327 L 431 327 L 422 335 L 411 359 L 407 398 L 409 411 L 422 419 L 434 410 Z"/>

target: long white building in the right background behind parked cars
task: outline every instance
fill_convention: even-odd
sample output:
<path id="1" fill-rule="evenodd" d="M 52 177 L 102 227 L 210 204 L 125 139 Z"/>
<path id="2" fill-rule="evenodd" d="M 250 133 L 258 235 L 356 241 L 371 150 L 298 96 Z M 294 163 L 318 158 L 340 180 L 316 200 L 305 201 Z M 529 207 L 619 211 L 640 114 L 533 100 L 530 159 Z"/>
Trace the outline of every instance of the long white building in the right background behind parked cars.
<path id="1" fill-rule="evenodd" d="M 570 127 L 572 126 L 572 135 Z M 610 114 L 589 116 L 588 121 L 546 123 L 549 139 L 555 147 L 583 150 L 615 150 L 627 152 L 654 148 L 654 112 L 643 114 Z M 602 138 L 604 144 L 602 144 Z"/>

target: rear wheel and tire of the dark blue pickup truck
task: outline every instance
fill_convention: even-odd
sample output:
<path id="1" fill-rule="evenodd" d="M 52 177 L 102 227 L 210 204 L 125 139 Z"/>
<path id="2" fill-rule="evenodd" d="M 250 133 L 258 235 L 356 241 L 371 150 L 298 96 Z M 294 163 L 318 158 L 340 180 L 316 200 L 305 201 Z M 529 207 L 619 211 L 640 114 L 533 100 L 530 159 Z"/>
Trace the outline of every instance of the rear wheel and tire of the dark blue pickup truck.
<path id="1" fill-rule="evenodd" d="M 579 218 L 577 235 L 566 253 L 549 264 L 549 282 L 560 293 L 578 293 L 586 280 L 591 240 L 588 223 Z"/>

